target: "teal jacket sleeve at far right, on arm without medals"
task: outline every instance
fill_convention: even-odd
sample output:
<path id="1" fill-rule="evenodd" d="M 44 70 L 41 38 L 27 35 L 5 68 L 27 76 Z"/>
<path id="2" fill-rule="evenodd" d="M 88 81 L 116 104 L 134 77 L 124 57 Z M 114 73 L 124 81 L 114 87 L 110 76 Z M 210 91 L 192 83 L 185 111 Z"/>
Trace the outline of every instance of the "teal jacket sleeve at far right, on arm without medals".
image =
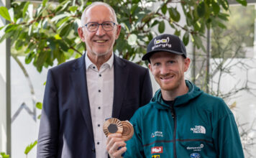
<path id="1" fill-rule="evenodd" d="M 225 104 L 225 106 L 227 105 Z M 219 158 L 243 158 L 244 153 L 237 124 L 234 120 L 233 113 L 229 109 L 228 111 L 229 113 L 221 117 L 216 126 L 214 126 L 214 147 Z"/>

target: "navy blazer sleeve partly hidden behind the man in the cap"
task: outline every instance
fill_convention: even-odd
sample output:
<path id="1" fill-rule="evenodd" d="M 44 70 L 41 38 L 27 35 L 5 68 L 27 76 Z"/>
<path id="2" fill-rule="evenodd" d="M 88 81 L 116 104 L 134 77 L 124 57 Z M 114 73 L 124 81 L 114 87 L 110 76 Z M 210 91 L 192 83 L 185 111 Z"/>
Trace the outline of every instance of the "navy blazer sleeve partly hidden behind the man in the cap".
<path id="1" fill-rule="evenodd" d="M 146 70 L 144 75 L 144 80 L 142 83 L 140 106 L 145 106 L 147 103 L 150 102 L 151 98 L 152 98 L 152 84 L 150 80 L 150 73 L 148 72 L 148 70 Z"/>

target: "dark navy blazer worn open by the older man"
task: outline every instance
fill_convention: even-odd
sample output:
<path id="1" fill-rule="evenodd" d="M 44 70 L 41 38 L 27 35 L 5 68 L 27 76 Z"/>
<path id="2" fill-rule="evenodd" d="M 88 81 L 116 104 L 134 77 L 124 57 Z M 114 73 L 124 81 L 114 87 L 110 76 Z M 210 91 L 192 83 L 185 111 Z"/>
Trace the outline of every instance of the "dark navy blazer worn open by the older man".
<path id="1" fill-rule="evenodd" d="M 148 70 L 114 55 L 112 116 L 129 120 L 151 98 Z M 96 157 L 85 55 L 48 70 L 37 144 L 37 158 L 47 157 Z"/>

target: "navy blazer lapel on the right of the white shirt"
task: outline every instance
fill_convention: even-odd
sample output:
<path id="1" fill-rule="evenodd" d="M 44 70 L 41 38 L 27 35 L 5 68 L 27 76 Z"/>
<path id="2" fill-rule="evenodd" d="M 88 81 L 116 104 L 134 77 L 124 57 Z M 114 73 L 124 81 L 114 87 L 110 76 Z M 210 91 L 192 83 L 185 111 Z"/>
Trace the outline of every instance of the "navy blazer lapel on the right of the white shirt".
<path id="1" fill-rule="evenodd" d="M 129 70 L 126 64 L 114 55 L 114 101 L 112 117 L 119 118 L 124 99 L 124 90 L 127 85 Z"/>

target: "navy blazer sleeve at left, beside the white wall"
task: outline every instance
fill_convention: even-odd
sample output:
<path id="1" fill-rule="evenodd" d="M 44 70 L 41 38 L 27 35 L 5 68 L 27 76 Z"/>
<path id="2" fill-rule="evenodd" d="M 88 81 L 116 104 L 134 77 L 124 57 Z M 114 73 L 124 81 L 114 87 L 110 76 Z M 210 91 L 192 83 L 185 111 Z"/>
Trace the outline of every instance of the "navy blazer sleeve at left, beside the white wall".
<path id="1" fill-rule="evenodd" d="M 58 128 L 58 91 L 55 87 L 52 71 L 49 70 L 40 119 L 37 158 L 57 157 Z"/>

